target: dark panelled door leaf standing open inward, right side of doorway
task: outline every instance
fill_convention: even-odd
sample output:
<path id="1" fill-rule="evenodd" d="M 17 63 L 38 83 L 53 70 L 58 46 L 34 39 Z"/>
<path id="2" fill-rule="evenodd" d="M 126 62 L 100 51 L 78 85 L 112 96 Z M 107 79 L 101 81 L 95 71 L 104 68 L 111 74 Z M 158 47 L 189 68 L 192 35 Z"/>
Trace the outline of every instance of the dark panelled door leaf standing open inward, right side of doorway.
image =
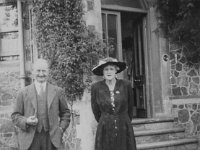
<path id="1" fill-rule="evenodd" d="M 144 29 L 143 18 L 133 25 L 133 89 L 136 101 L 137 117 L 147 117 L 145 63 L 144 63 Z"/>

